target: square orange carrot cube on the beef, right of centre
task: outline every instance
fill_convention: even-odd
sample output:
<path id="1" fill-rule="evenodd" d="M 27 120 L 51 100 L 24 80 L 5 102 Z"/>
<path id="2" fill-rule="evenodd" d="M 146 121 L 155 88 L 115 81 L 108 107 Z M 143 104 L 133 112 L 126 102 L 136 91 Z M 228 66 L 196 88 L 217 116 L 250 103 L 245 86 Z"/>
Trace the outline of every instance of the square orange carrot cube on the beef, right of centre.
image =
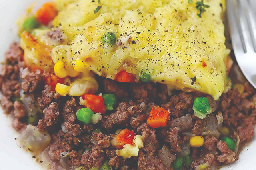
<path id="1" fill-rule="evenodd" d="M 159 128 L 166 126 L 167 121 L 170 119 L 168 110 L 154 106 L 148 116 L 147 123 L 152 128 Z"/>

